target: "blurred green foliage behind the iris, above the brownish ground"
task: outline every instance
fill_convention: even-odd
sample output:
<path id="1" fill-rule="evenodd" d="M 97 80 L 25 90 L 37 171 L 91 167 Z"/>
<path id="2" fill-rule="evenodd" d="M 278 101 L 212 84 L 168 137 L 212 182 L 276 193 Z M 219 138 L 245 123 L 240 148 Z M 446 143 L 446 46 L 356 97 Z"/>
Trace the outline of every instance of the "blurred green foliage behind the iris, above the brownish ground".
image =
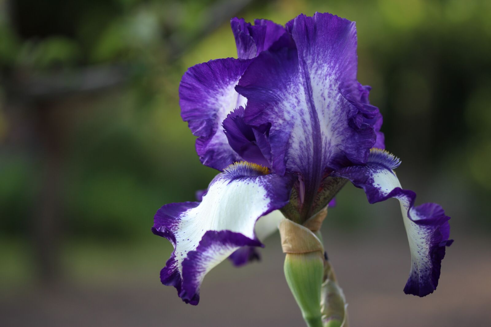
<path id="1" fill-rule="evenodd" d="M 36 143 L 8 119 L 15 110 L 12 76 L 125 68 L 119 86 L 65 97 L 55 110 L 64 126 L 61 205 L 69 237 L 146 237 L 159 206 L 193 201 L 216 174 L 199 164 L 194 137 L 180 120 L 181 75 L 196 63 L 236 55 L 231 16 L 284 24 L 315 11 L 357 22 L 358 77 L 373 87 L 387 148 L 406 167 L 401 174 L 417 176 L 405 186 L 426 190 L 425 198 L 472 226 L 491 226 L 485 214 L 491 209 L 490 1 L 2 0 L 0 6 L 1 233 L 28 235 L 42 187 Z M 340 198 L 344 221 L 367 226 L 348 197 Z"/>

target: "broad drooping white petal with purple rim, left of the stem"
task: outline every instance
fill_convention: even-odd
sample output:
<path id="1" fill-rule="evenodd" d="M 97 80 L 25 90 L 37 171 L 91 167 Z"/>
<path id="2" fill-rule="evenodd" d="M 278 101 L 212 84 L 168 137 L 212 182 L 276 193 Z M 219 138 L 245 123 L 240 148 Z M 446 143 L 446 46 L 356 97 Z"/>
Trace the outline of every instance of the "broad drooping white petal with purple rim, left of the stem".
<path id="1" fill-rule="evenodd" d="M 174 246 L 162 283 L 197 304 L 201 282 L 213 267 L 241 247 L 262 245 L 254 234 L 256 220 L 288 202 L 291 184 L 289 176 L 238 162 L 214 178 L 202 202 L 164 205 L 152 227 Z"/>

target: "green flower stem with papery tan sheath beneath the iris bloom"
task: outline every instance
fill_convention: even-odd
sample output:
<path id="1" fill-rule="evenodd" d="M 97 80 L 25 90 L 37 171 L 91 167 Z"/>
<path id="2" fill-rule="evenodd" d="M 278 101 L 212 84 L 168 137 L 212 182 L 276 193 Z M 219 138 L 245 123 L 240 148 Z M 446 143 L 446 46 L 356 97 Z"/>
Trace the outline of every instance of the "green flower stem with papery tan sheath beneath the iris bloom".
<path id="1" fill-rule="evenodd" d="M 325 256 L 319 228 L 327 208 L 303 226 L 284 219 L 279 224 L 285 256 L 285 278 L 307 327 L 347 327 L 343 291 Z"/>

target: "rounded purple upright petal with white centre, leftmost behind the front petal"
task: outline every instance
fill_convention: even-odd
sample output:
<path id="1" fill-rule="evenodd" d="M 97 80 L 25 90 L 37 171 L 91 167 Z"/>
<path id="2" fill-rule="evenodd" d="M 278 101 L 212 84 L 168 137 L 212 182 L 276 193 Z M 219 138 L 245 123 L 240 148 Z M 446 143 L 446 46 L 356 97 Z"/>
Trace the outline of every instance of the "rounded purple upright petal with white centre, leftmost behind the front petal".
<path id="1" fill-rule="evenodd" d="M 230 148 L 221 123 L 234 108 L 246 104 L 234 87 L 246 70 L 248 60 L 226 58 L 191 67 L 179 85 L 181 117 L 196 140 L 203 165 L 222 170 L 240 160 Z"/>

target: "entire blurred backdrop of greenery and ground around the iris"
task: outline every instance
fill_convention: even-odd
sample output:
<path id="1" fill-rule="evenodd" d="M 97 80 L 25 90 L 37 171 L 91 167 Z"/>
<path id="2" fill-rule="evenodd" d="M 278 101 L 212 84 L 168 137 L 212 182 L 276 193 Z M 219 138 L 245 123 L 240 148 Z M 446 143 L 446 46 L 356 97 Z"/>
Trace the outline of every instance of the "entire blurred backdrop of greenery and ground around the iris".
<path id="1" fill-rule="evenodd" d="M 180 119 L 186 69 L 236 56 L 232 17 L 315 11 L 356 21 L 398 176 L 456 239 L 436 293 L 408 298 L 397 202 L 347 185 L 324 234 L 353 326 L 491 326 L 491 1 L 0 0 L 4 326 L 302 326 L 277 236 L 262 263 L 216 268 L 191 307 L 160 284 L 171 246 L 150 227 L 217 174 Z"/>

